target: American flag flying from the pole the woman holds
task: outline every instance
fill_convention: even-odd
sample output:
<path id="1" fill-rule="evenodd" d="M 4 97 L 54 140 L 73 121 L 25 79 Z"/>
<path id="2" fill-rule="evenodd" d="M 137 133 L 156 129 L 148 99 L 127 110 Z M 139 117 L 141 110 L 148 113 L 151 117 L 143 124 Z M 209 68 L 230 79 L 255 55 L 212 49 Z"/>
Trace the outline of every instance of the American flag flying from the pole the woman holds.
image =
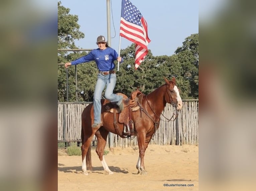
<path id="1" fill-rule="evenodd" d="M 135 43 L 135 70 L 148 53 L 150 39 L 147 22 L 140 11 L 128 0 L 122 0 L 120 36 Z"/>

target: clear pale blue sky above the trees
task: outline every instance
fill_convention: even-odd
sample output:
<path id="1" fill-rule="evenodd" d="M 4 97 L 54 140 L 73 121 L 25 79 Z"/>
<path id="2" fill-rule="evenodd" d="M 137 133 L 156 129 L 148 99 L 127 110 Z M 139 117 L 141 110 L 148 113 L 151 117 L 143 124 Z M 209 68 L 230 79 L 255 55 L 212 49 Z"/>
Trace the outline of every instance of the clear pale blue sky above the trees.
<path id="1" fill-rule="evenodd" d="M 199 0 L 130 0 L 148 25 L 151 42 L 148 49 L 153 56 L 175 54 L 185 38 L 199 32 Z M 119 49 L 119 31 L 122 0 L 111 0 L 111 47 Z M 79 48 L 96 49 L 96 39 L 107 38 L 107 0 L 61 0 L 61 5 L 70 8 L 70 14 L 78 15 L 80 31 L 85 38 L 75 40 Z M 113 14 L 113 17 L 112 17 Z M 121 49 L 132 42 L 121 38 Z"/>

